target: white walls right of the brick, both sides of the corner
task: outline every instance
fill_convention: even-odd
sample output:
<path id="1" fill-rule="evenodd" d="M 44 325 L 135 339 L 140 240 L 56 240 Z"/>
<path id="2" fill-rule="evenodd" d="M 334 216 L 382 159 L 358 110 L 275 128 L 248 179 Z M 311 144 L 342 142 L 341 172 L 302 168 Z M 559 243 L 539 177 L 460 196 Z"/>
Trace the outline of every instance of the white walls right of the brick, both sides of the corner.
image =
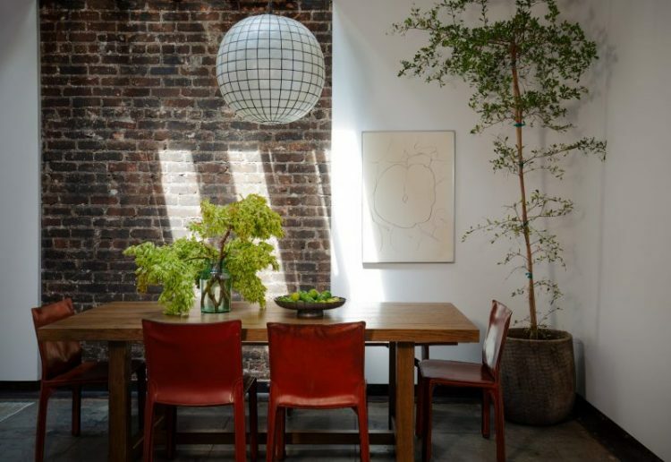
<path id="1" fill-rule="evenodd" d="M 429 6 L 433 0 L 416 1 Z M 671 285 L 671 4 L 665 0 L 592 0 L 561 6 L 599 43 L 601 58 L 587 76 L 590 98 L 573 107 L 577 129 L 567 136 L 607 139 L 604 164 L 572 158 L 564 182 L 537 178 L 550 193 L 575 201 L 572 216 L 553 227 L 565 248 L 567 270 L 552 269 L 565 293 L 551 318 L 576 340 L 579 392 L 659 457 L 671 460 L 671 342 L 665 304 Z M 524 316 L 511 298 L 519 279 L 496 265 L 505 245 L 485 235 L 459 236 L 514 201 L 516 184 L 494 175 L 491 134 L 473 136 L 470 90 L 455 81 L 440 89 L 398 78 L 402 58 L 422 44 L 418 34 L 389 35 L 411 4 L 395 0 L 335 0 L 332 145 L 333 290 L 356 299 L 452 301 L 481 329 L 498 298 Z M 457 236 L 454 264 L 361 263 L 361 132 L 456 132 Z M 539 141 L 543 141 L 539 139 Z M 546 141 L 547 142 L 547 141 Z M 477 361 L 480 346 L 445 347 L 437 357 Z M 367 357 L 370 382 L 386 381 L 386 353 Z M 432 350 L 432 355 L 434 355 Z"/>

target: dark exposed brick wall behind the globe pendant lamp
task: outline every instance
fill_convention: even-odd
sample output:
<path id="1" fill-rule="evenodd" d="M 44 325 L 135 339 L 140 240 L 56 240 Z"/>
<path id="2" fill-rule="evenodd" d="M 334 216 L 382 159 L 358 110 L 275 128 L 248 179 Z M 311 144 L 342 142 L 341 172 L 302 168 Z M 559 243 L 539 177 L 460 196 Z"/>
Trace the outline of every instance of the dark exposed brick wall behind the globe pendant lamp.
<path id="1" fill-rule="evenodd" d="M 239 7 L 240 6 L 240 7 Z M 79 309 L 135 291 L 127 246 L 170 242 L 200 199 L 261 193 L 284 217 L 268 295 L 328 287 L 331 6 L 275 2 L 322 45 L 327 84 L 293 124 L 242 122 L 225 107 L 219 42 L 266 2 L 69 0 L 40 4 L 42 298 Z"/>

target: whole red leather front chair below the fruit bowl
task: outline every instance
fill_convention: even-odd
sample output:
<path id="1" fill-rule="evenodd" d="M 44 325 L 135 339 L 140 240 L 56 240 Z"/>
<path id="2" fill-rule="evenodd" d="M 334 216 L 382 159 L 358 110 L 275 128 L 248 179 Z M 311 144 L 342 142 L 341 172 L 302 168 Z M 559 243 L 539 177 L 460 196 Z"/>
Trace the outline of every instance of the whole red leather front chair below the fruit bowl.
<path id="1" fill-rule="evenodd" d="M 268 323 L 270 396 L 266 459 L 285 454 L 287 408 L 352 407 L 359 419 L 361 461 L 368 462 L 368 408 L 363 376 L 365 322 Z"/>

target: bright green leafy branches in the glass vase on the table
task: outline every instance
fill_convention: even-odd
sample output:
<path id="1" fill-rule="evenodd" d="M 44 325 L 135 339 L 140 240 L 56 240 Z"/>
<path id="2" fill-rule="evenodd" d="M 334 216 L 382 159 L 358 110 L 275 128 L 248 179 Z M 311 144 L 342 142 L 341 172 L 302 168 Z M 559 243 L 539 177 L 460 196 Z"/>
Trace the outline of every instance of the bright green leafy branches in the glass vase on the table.
<path id="1" fill-rule="evenodd" d="M 145 242 L 123 252 L 135 257 L 138 291 L 162 285 L 158 301 L 166 314 L 188 313 L 194 284 L 203 270 L 214 265 L 228 271 L 242 298 L 265 308 L 266 287 L 257 272 L 279 269 L 273 246 L 266 241 L 284 235 L 282 218 L 257 194 L 223 206 L 202 201 L 200 211 L 202 219 L 189 225 L 189 237 L 160 246 Z"/>

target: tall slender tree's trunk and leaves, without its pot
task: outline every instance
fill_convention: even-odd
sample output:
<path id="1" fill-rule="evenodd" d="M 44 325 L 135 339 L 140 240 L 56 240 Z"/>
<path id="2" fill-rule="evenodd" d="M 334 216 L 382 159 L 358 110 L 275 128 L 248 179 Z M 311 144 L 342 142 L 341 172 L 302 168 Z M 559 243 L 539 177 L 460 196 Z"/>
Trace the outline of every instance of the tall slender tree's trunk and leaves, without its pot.
<path id="1" fill-rule="evenodd" d="M 503 20 L 492 19 L 489 3 L 441 0 L 425 12 L 413 8 L 394 30 L 401 34 L 420 30 L 429 34 L 429 43 L 412 61 L 402 61 L 399 75 L 423 77 L 440 86 L 449 77 L 460 77 L 471 86 L 469 106 L 480 116 L 480 124 L 471 133 L 481 133 L 494 125 L 511 127 L 514 140 L 505 133 L 497 135 L 496 157 L 491 164 L 495 171 L 503 170 L 517 178 L 519 200 L 505 206 L 505 216 L 471 227 L 463 238 L 485 231 L 491 234 L 491 243 L 503 238 L 514 243 L 499 264 L 512 263 L 513 271 L 527 279 L 513 295 L 527 296 L 530 337 L 538 338 L 543 319 L 538 317 L 536 291 L 547 293 L 548 312 L 558 308 L 556 302 L 562 293 L 553 280 L 535 277 L 534 268 L 539 263 L 565 265 L 556 235 L 548 230 L 547 218 L 570 213 L 573 201 L 538 189 L 530 192 L 526 175 L 545 171 L 561 179 L 565 173 L 560 164 L 563 158 L 582 152 L 603 160 L 606 143 L 582 138 L 529 148 L 523 144 L 522 135 L 534 126 L 557 133 L 572 128 L 565 122 L 566 106 L 588 92 L 580 81 L 597 59 L 597 47 L 585 38 L 579 24 L 560 20 L 555 0 L 514 0 L 514 13 Z M 472 27 L 464 20 L 471 13 L 479 16 L 478 24 Z"/>

